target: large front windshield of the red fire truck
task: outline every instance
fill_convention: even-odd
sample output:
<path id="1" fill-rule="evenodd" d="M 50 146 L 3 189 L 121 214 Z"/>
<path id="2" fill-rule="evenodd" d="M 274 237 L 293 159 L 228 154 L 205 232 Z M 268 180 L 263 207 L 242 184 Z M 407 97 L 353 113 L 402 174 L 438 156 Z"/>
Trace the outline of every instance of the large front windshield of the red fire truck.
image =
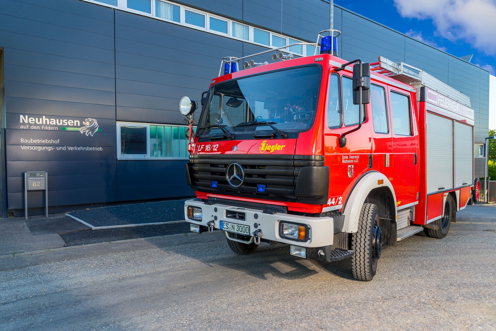
<path id="1" fill-rule="evenodd" d="M 319 84 L 320 67 L 313 65 L 215 85 L 196 133 L 306 131 L 313 122 Z"/>

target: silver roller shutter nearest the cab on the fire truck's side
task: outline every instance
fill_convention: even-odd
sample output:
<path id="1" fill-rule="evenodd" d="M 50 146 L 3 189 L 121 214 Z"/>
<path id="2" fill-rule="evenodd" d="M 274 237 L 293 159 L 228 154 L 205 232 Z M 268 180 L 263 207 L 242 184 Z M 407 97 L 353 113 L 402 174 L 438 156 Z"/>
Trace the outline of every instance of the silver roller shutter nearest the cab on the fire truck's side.
<path id="1" fill-rule="evenodd" d="M 453 188 L 453 121 L 427 113 L 427 193 Z"/>

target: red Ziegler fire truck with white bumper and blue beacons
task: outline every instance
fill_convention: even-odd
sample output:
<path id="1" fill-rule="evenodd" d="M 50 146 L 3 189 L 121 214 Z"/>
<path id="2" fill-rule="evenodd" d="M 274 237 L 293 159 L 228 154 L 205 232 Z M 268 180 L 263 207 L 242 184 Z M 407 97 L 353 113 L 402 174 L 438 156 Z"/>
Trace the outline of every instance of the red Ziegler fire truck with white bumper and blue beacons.
<path id="1" fill-rule="evenodd" d="M 302 258 L 351 257 L 353 276 L 372 280 L 382 243 L 442 238 L 475 199 L 474 110 L 421 69 L 343 60 L 334 40 L 299 58 L 284 50 L 300 44 L 281 47 L 270 64 L 249 59 L 274 50 L 222 59 L 188 145 L 185 217 L 193 232 L 225 231 L 238 254 L 286 243 Z M 192 124 L 196 102 L 180 109 Z"/>

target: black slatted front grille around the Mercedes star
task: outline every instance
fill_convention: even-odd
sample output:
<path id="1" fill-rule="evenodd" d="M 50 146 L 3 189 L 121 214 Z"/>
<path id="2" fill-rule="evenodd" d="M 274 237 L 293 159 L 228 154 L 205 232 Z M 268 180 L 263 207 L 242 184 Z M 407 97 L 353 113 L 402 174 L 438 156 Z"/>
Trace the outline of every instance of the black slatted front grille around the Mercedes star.
<path id="1" fill-rule="evenodd" d="M 243 184 L 238 188 L 229 185 L 226 169 L 229 165 L 241 165 Z M 191 186 L 194 190 L 208 193 L 224 193 L 245 197 L 269 197 L 273 200 L 297 201 L 296 181 L 304 166 L 324 165 L 323 156 L 308 155 L 191 155 L 189 168 Z M 232 170 L 232 166 L 229 170 Z M 230 178 L 232 173 L 229 173 Z M 236 179 L 236 178 L 233 178 Z M 217 187 L 211 187 L 216 181 Z M 238 183 L 234 180 L 235 185 Z M 265 192 L 257 192 L 257 185 L 265 185 Z"/>

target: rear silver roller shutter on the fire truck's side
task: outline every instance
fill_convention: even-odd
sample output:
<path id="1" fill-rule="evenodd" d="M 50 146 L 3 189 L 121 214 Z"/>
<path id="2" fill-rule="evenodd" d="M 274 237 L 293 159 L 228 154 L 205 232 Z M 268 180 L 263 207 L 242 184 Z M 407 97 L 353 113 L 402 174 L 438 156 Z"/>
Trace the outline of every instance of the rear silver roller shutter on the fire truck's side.
<path id="1" fill-rule="evenodd" d="M 472 126 L 455 122 L 455 187 L 472 183 L 473 153 Z"/>

